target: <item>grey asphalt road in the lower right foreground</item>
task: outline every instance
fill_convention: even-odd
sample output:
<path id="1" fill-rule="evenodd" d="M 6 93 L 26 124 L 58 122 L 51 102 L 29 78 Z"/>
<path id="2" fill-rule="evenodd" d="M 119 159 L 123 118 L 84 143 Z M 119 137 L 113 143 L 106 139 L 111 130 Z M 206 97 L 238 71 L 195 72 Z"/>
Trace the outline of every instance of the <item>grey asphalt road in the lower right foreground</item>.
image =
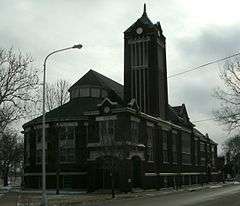
<path id="1" fill-rule="evenodd" d="M 212 188 L 194 192 L 110 201 L 101 206 L 240 206 L 240 185 Z"/>

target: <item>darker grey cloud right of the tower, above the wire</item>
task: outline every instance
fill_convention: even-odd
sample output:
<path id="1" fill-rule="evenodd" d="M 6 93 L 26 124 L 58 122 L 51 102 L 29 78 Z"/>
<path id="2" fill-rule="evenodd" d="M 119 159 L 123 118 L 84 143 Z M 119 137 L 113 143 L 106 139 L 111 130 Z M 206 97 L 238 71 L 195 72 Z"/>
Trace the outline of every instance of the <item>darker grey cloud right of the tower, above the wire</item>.
<path id="1" fill-rule="evenodd" d="M 179 39 L 176 44 L 181 56 L 205 62 L 206 59 L 221 58 L 239 51 L 240 24 L 209 26 L 199 36 Z"/>

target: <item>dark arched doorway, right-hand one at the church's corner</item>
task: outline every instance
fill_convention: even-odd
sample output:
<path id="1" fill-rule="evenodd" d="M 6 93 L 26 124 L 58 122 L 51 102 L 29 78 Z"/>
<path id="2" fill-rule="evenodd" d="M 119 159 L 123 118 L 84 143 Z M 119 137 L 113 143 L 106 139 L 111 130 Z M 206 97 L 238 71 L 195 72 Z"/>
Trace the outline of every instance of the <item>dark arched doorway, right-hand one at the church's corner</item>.
<path id="1" fill-rule="evenodd" d="M 132 186 L 141 187 L 141 160 L 139 157 L 132 158 Z"/>

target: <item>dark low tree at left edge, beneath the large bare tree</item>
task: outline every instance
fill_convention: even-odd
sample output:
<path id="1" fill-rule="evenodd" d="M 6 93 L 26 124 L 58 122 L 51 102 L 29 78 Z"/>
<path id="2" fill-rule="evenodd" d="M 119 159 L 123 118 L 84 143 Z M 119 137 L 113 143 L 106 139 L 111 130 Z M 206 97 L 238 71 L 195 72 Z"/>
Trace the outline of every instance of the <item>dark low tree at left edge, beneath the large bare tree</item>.
<path id="1" fill-rule="evenodd" d="M 0 136 L 0 174 L 4 186 L 8 185 L 9 173 L 15 171 L 23 161 L 23 142 L 18 133 L 6 129 Z"/>

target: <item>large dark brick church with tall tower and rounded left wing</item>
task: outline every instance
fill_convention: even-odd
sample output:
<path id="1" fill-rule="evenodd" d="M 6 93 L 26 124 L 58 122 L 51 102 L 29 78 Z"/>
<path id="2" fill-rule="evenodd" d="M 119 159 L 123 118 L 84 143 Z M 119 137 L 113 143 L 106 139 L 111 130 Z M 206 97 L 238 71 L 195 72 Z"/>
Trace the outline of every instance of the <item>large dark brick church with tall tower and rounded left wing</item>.
<path id="1" fill-rule="evenodd" d="M 171 92 L 171 91 L 170 91 Z M 124 32 L 124 85 L 93 70 L 46 114 L 47 188 L 164 188 L 216 181 L 217 144 L 168 103 L 166 38 L 146 13 Z M 42 116 L 23 125 L 24 187 L 42 181 Z"/>

